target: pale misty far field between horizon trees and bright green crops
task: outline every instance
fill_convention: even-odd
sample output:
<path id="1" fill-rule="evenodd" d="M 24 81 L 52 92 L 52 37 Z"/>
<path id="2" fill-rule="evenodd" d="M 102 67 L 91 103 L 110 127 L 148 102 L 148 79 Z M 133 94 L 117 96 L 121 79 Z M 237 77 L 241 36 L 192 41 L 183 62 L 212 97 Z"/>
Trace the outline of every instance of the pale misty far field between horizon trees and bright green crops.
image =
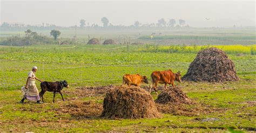
<path id="1" fill-rule="evenodd" d="M 50 30 L 35 31 L 43 36 L 51 37 Z M 106 39 L 116 43 L 161 44 L 161 45 L 251 45 L 256 44 L 255 28 L 187 28 L 187 29 L 136 29 L 136 30 L 92 30 L 75 29 L 60 30 L 59 39 L 77 37 L 77 44 L 86 44 L 91 38 L 98 38 L 102 44 Z M 153 38 L 151 39 L 151 34 Z M 24 31 L 1 31 L 0 41 L 10 36 L 24 36 Z"/>

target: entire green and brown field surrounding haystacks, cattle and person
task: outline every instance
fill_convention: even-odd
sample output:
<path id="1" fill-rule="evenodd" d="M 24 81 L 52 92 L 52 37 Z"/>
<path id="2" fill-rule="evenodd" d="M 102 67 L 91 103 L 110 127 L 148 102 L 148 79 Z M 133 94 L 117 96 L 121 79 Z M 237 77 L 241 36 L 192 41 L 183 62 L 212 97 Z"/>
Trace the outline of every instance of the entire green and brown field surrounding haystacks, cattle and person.
<path id="1" fill-rule="evenodd" d="M 0 131 L 255 131 L 255 45 L 217 46 L 234 61 L 239 81 L 176 82 L 197 104 L 160 111 L 161 118 L 138 120 L 100 117 L 104 95 L 81 96 L 77 88 L 119 86 L 125 73 L 139 73 L 149 78 L 152 71 L 172 69 L 184 75 L 197 52 L 208 46 L 78 46 L 0 47 Z M 115 47 L 120 48 L 109 49 Z M 56 103 L 52 103 L 52 93 L 46 92 L 44 104 L 18 103 L 22 95 L 20 89 L 32 66 L 38 66 L 39 79 L 68 81 L 71 87 L 64 88 L 64 102 L 57 94 Z M 40 90 L 38 81 L 37 87 Z M 154 92 L 152 96 L 157 97 Z"/>

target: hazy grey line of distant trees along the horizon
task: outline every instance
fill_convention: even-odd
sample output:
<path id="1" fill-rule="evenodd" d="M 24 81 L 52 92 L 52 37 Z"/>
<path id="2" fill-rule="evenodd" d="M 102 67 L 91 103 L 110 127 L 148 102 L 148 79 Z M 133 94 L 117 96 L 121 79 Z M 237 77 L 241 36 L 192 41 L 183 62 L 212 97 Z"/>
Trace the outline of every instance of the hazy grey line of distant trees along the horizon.
<path id="1" fill-rule="evenodd" d="M 2 23 L 0 26 L 1 31 L 15 31 L 15 30 L 73 30 L 75 28 L 78 29 L 88 29 L 88 30 L 104 30 L 104 29 L 150 29 L 150 28 L 159 28 L 159 27 L 189 27 L 186 25 L 186 21 L 183 19 L 173 19 L 165 20 L 164 18 L 161 18 L 157 21 L 157 23 L 146 23 L 142 24 L 138 20 L 134 22 L 133 24 L 129 26 L 125 25 L 113 25 L 110 23 L 110 20 L 107 17 L 103 17 L 100 19 L 102 22 L 102 26 L 95 24 L 95 23 L 86 23 L 85 19 L 81 19 L 79 21 L 79 25 L 73 25 L 73 26 L 57 26 L 55 24 L 49 24 L 49 23 L 42 23 L 41 25 L 24 25 L 24 24 L 9 24 L 9 23 Z"/>

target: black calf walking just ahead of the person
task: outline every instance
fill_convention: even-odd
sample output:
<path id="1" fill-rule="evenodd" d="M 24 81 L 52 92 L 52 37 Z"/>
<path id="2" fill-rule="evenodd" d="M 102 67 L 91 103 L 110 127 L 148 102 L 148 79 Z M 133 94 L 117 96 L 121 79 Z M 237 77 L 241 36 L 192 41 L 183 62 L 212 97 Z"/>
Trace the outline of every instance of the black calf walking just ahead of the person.
<path id="1" fill-rule="evenodd" d="M 49 91 L 49 92 L 53 92 L 53 103 L 54 103 L 54 98 L 55 98 L 56 92 L 58 92 L 60 95 L 62 95 L 62 92 L 61 92 L 62 88 L 63 87 L 69 88 L 68 82 L 66 82 L 66 80 L 56 81 L 56 82 L 44 81 L 44 82 L 41 82 L 40 86 L 41 86 L 42 90 L 39 93 L 39 95 L 40 95 L 40 97 L 42 97 L 42 101 L 44 102 L 44 99 L 43 99 L 44 93 L 46 91 Z M 64 101 L 63 95 L 62 95 L 62 100 Z"/>

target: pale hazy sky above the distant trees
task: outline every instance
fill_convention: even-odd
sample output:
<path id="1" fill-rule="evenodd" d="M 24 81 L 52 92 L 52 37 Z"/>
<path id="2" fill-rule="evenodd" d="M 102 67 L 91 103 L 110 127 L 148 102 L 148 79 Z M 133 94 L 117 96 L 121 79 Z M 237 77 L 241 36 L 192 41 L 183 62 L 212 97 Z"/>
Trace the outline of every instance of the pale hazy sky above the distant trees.
<path id="1" fill-rule="evenodd" d="M 113 25 L 157 23 L 164 18 L 184 19 L 194 27 L 255 26 L 255 1 L 3 1 L 0 23 L 60 26 L 87 23 L 102 25 L 107 17 Z M 205 18 L 210 18 L 206 20 Z"/>

